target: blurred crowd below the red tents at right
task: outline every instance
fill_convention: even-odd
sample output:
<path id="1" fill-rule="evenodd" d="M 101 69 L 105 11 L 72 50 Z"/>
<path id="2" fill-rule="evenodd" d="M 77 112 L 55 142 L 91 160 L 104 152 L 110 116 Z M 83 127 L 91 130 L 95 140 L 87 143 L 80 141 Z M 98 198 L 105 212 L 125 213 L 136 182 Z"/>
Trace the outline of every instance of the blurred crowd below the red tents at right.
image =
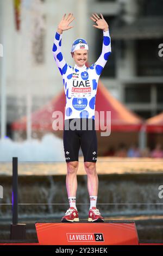
<path id="1" fill-rule="evenodd" d="M 136 144 L 127 148 L 124 143 L 121 143 L 117 150 L 114 147 L 109 147 L 104 156 L 163 158 L 163 150 L 161 144 L 156 144 L 152 150 L 149 148 L 140 150 Z"/>

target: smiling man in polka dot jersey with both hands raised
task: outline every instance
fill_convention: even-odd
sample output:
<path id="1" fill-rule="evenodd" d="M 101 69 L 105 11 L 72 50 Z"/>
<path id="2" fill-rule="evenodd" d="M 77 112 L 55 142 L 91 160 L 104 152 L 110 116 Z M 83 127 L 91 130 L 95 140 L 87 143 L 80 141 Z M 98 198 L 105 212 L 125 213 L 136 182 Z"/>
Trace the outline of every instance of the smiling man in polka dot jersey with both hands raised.
<path id="1" fill-rule="evenodd" d="M 96 208 L 98 194 L 98 176 L 96 172 L 97 136 L 95 129 L 95 101 L 99 76 L 111 53 L 111 41 L 108 23 L 102 14 L 92 14 L 93 27 L 102 29 L 103 46 L 101 56 L 95 63 L 87 67 L 89 46 L 83 38 L 73 41 L 71 55 L 75 65 L 65 62 L 61 53 L 62 33 L 73 28 L 70 23 L 73 14 L 64 15 L 58 25 L 54 38 L 53 55 L 62 75 L 66 96 L 64 150 L 67 163 L 66 188 L 70 208 L 66 211 L 62 222 L 79 221 L 76 207 L 78 156 L 81 147 L 84 156 L 84 168 L 87 174 L 87 188 L 90 196 L 88 221 L 103 222 Z"/>

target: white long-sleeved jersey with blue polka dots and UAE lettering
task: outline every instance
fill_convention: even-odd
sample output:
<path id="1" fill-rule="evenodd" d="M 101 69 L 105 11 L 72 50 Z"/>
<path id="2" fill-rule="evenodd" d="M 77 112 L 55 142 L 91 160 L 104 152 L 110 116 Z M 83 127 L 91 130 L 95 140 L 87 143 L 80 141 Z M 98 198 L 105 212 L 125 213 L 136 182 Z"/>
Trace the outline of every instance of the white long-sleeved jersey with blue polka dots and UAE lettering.
<path id="1" fill-rule="evenodd" d="M 89 67 L 65 62 L 61 53 L 62 34 L 56 33 L 53 45 L 55 62 L 62 75 L 66 95 L 65 120 L 71 118 L 95 119 L 95 101 L 99 76 L 111 53 L 109 31 L 103 31 L 103 47 L 101 56 Z"/>

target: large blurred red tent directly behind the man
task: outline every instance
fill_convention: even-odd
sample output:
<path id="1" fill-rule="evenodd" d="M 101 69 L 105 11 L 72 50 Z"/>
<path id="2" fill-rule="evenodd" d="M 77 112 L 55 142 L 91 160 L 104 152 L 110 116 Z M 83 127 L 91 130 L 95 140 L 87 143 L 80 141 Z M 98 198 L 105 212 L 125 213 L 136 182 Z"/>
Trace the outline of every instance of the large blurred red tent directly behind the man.
<path id="1" fill-rule="evenodd" d="M 54 111 L 60 111 L 64 116 L 64 92 L 52 99 L 46 106 L 32 113 L 32 130 L 54 131 L 52 127 L 54 121 L 52 114 Z M 100 81 L 98 82 L 96 96 L 96 111 L 98 113 L 100 111 L 104 111 L 104 113 L 111 111 L 111 131 L 139 131 L 142 125 L 142 120 L 136 114 L 129 111 L 121 102 L 116 100 Z M 106 118 L 106 115 L 104 118 Z M 26 123 L 27 118 L 22 117 L 20 120 L 12 123 L 12 130 L 26 131 Z"/>

